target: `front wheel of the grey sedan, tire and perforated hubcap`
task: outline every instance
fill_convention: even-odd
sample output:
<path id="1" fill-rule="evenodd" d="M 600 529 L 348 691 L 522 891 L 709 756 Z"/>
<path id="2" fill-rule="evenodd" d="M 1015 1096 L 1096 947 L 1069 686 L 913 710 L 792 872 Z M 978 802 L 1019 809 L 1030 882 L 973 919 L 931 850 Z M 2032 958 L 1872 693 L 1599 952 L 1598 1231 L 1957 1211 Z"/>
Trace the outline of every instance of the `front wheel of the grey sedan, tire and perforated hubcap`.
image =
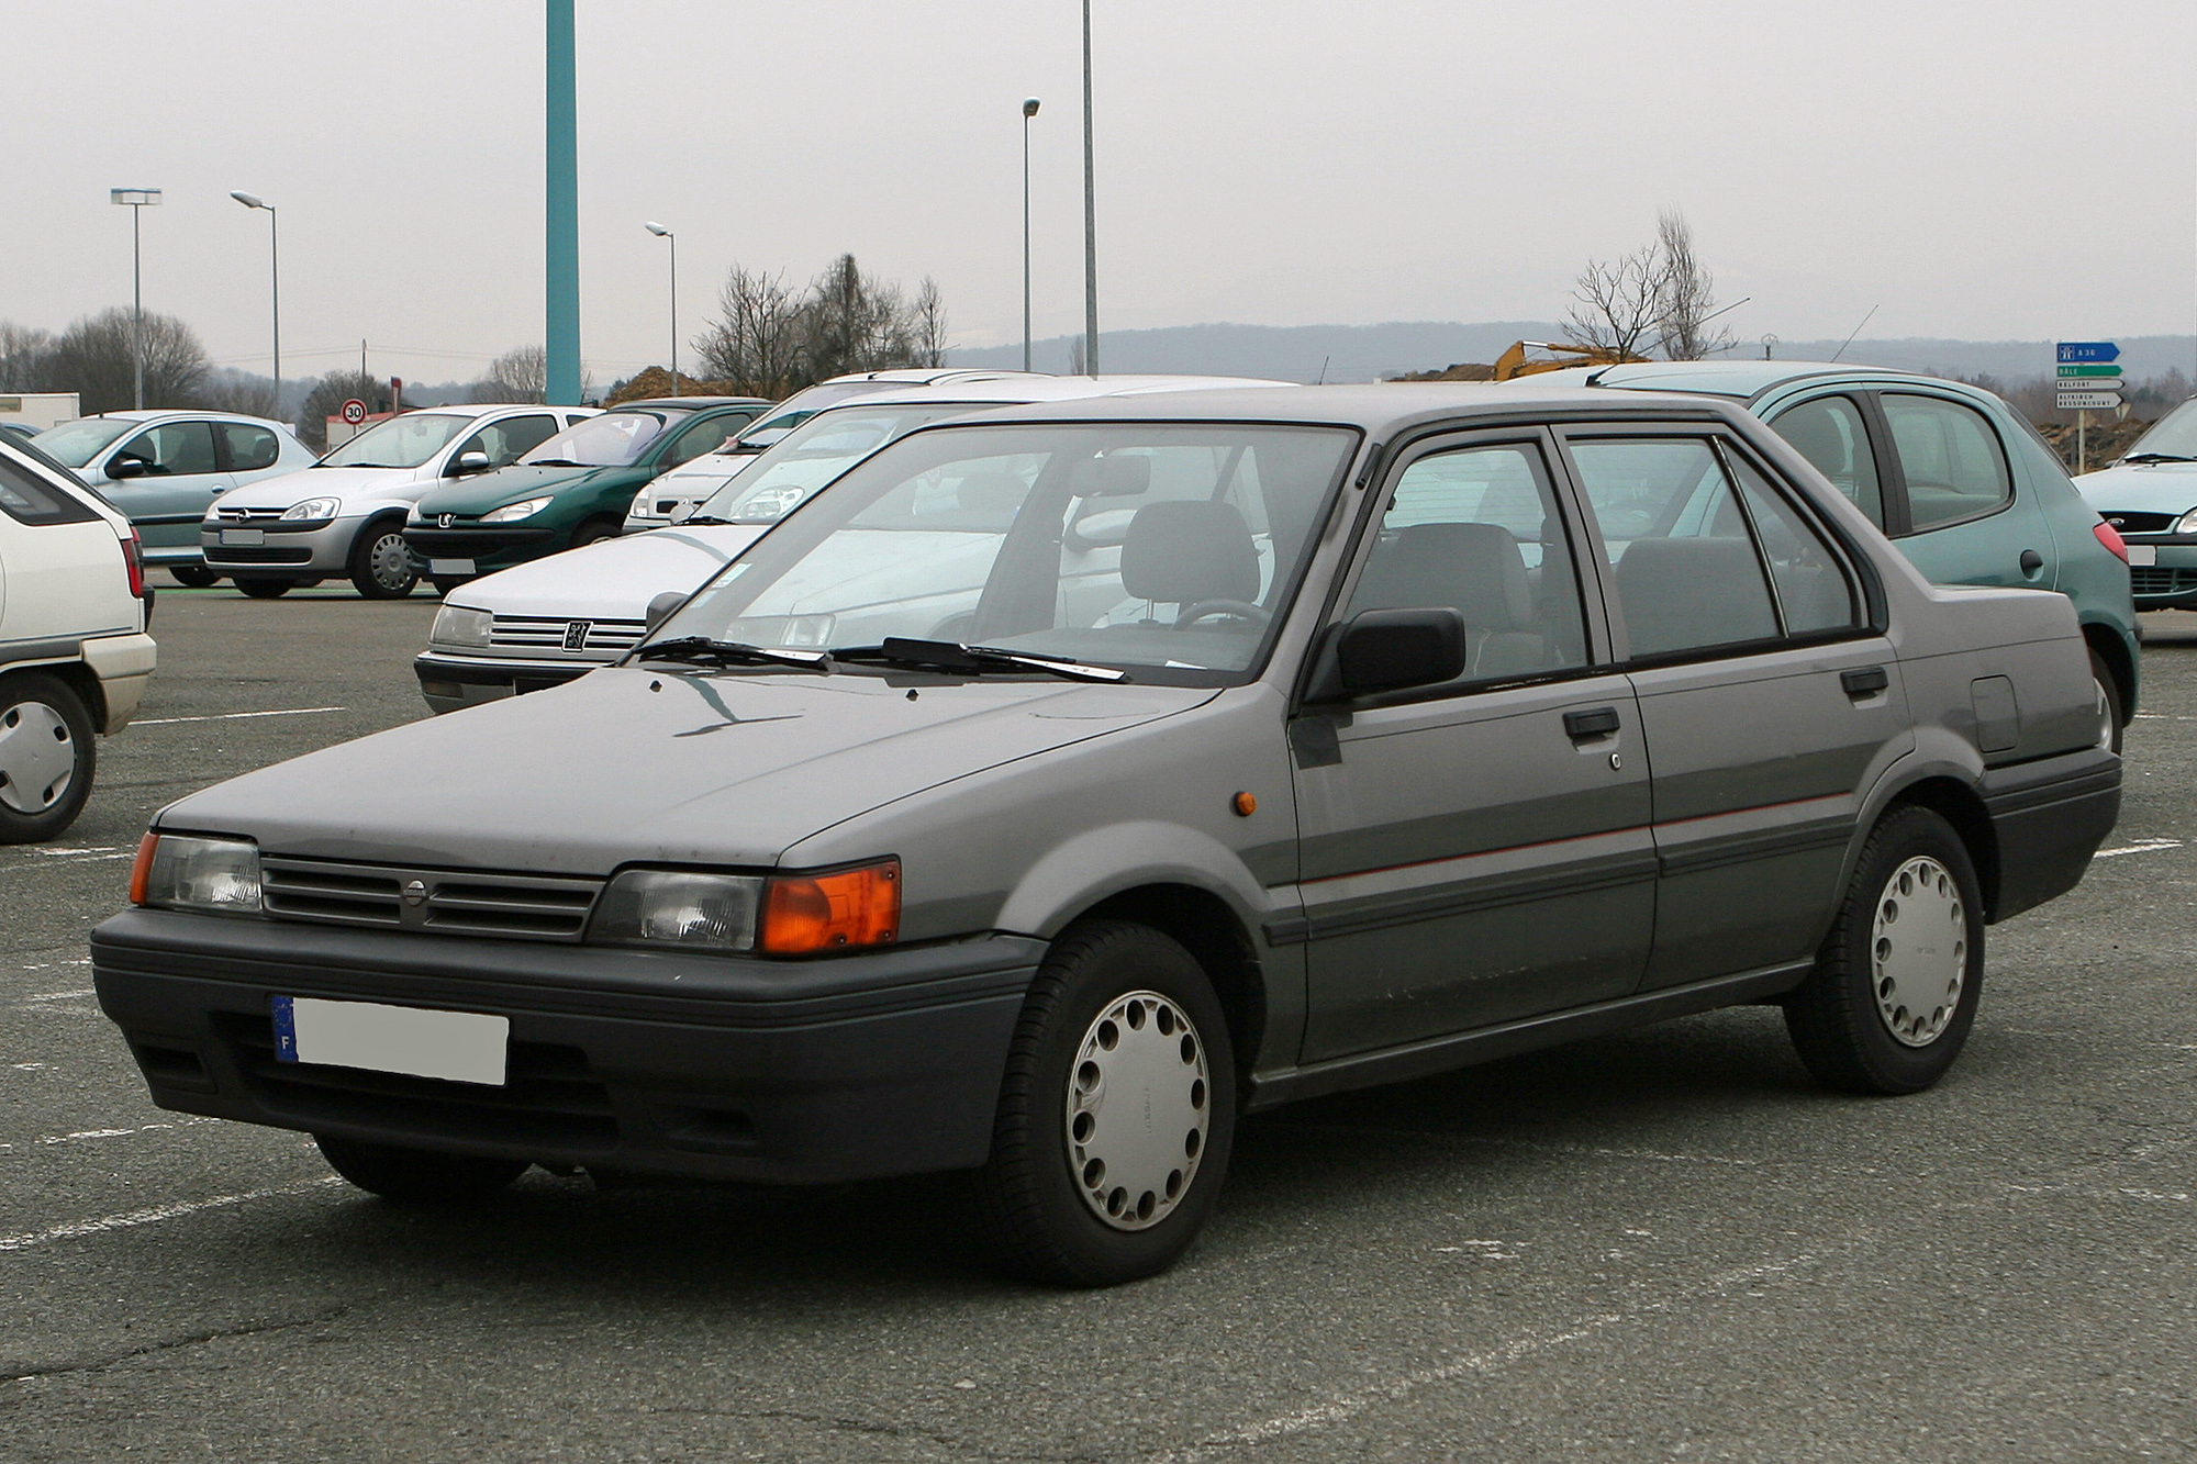
<path id="1" fill-rule="evenodd" d="M 1107 1125 L 1134 1093 L 1131 1125 Z M 978 1209 L 1017 1275 L 1112 1286 L 1197 1238 L 1235 1139 L 1228 1020 L 1195 956 L 1127 921 L 1052 943 L 1006 1057 Z"/>

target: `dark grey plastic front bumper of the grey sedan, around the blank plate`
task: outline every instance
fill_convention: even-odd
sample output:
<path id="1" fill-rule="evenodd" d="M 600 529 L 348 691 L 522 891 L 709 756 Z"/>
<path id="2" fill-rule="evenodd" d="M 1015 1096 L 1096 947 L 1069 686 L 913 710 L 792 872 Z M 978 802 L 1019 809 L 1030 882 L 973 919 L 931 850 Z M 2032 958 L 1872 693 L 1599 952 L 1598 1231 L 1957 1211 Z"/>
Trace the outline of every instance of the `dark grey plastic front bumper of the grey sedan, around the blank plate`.
<path id="1" fill-rule="evenodd" d="M 455 1154 L 837 1183 L 991 1150 L 1041 941 L 754 961 L 127 910 L 99 1005 L 160 1108 Z M 510 1018 L 501 1088 L 275 1060 L 270 998 Z"/>

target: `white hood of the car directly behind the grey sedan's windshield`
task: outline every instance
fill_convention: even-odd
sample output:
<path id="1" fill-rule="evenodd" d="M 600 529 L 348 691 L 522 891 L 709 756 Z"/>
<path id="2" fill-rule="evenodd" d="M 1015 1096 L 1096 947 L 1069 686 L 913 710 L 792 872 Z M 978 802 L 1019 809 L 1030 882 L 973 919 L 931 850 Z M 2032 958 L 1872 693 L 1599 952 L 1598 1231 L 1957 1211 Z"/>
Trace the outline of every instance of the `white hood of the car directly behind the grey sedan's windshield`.
<path id="1" fill-rule="evenodd" d="M 584 550 L 481 576 L 455 591 L 450 602 L 499 615 L 642 620 L 650 600 L 666 589 L 696 589 L 756 543 L 765 528 L 769 525 L 703 523 L 600 539 Z"/>

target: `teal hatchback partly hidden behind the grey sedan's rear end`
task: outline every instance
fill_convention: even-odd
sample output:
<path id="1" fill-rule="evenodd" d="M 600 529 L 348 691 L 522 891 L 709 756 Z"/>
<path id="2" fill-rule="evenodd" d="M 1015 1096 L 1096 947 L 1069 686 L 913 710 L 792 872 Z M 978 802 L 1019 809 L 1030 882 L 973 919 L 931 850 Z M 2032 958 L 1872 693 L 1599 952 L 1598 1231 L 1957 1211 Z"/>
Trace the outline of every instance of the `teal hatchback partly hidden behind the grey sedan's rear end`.
<path id="1" fill-rule="evenodd" d="M 2109 725 L 2120 750 L 2135 714 L 2142 642 L 2129 550 L 2070 481 L 2059 453 L 1990 391 L 1810 361 L 1641 361 L 1523 380 L 1736 398 L 1931 580 L 2061 591 L 2089 642 L 2100 736 Z"/>

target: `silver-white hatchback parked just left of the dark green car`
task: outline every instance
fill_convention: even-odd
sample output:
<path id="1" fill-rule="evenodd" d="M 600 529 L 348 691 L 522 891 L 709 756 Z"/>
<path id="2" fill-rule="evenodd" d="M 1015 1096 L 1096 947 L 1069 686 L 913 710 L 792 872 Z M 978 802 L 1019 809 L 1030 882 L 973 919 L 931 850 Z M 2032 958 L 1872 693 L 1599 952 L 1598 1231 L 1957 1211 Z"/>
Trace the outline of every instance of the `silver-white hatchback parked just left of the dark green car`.
<path id="1" fill-rule="evenodd" d="M 420 583 L 404 517 L 431 488 L 518 462 L 595 415 L 593 407 L 422 407 L 376 422 L 321 462 L 213 501 L 200 523 L 207 567 L 272 600 L 347 576 L 369 600 Z"/>

